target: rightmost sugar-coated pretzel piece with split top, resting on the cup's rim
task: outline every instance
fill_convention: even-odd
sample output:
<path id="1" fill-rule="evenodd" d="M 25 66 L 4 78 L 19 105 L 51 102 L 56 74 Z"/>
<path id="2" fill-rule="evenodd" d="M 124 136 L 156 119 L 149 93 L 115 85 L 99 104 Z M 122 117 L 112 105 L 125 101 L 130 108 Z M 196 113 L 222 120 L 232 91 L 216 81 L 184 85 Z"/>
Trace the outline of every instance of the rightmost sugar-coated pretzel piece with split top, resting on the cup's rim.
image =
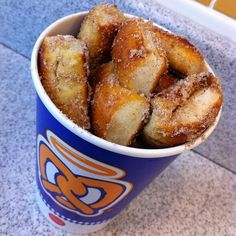
<path id="1" fill-rule="evenodd" d="M 211 73 L 191 75 L 157 94 L 151 103 L 145 140 L 156 147 L 183 144 L 215 121 L 222 105 L 220 81 Z"/>

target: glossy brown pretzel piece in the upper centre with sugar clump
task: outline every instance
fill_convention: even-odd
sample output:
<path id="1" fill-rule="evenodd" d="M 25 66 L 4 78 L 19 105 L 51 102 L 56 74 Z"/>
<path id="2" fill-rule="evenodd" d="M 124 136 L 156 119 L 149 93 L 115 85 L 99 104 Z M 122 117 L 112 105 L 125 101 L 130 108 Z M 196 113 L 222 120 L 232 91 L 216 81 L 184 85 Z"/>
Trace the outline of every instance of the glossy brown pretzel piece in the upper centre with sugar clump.
<path id="1" fill-rule="evenodd" d="M 138 93 L 150 95 L 167 70 L 165 52 L 153 33 L 151 22 L 129 19 L 119 30 L 112 60 L 120 84 Z"/>

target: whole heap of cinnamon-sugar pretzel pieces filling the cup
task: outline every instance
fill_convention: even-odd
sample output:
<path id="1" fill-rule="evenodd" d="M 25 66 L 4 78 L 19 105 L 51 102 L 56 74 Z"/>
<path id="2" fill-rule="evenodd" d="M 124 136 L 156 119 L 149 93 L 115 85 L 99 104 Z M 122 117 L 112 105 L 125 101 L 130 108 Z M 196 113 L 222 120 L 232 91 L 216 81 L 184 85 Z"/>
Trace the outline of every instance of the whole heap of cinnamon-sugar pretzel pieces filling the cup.
<path id="1" fill-rule="evenodd" d="M 103 24 L 108 31 L 103 30 Z M 56 37 L 73 38 L 51 36 L 44 40 L 39 55 L 42 84 L 63 113 L 85 129 L 89 128 L 91 117 L 91 130 L 107 141 L 130 146 L 141 134 L 145 145 L 150 145 L 148 147 L 180 145 L 198 138 L 220 112 L 221 85 L 219 79 L 209 72 L 200 51 L 187 39 L 162 30 L 151 21 L 140 18 L 125 20 L 123 13 L 109 4 L 93 8 L 82 23 L 79 39 L 74 39 L 84 45 L 84 54 L 78 57 L 80 59 L 73 58 L 82 75 L 75 74 L 75 83 L 71 86 L 64 83 L 66 74 L 44 72 L 48 67 L 44 57 L 53 58 L 54 66 L 60 62 L 60 54 L 55 54 L 60 51 L 60 44 L 53 44 L 53 50 L 43 53 L 47 41 Z M 64 52 L 64 59 L 70 60 Z M 109 58 L 111 62 L 101 65 L 96 72 L 95 68 Z M 69 61 L 63 63 L 70 65 Z M 90 79 L 88 67 L 93 71 Z M 70 74 L 74 69 L 71 66 L 66 73 Z M 64 81 L 59 90 L 57 86 L 53 88 L 58 80 Z M 60 103 L 61 96 L 64 98 L 63 91 L 71 94 L 68 88 L 74 91 L 78 81 L 82 81 L 83 90 L 72 95 L 77 96 L 75 105 L 79 106 L 70 106 L 73 99 L 69 99 L 64 108 L 65 104 Z M 164 87 L 161 81 L 165 81 Z M 92 84 L 92 100 L 88 95 L 89 83 Z M 89 115 L 88 102 L 91 105 Z M 74 113 L 78 115 L 77 119 L 73 117 Z"/>

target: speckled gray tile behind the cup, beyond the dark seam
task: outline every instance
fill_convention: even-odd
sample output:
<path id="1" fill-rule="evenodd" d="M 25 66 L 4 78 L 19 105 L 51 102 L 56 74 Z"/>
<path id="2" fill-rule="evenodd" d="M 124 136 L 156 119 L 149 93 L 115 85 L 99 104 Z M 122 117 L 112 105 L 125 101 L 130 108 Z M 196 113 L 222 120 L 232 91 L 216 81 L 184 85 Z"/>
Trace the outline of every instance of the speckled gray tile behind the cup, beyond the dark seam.
<path id="1" fill-rule="evenodd" d="M 64 15 L 87 10 L 101 1 L 14 1 L 1 0 L 0 42 L 27 57 L 39 33 Z M 104 2 L 104 1 L 103 1 Z M 113 0 L 128 13 L 150 17 L 173 32 L 183 34 L 206 56 L 224 89 L 223 114 L 214 134 L 196 150 L 236 172 L 236 44 L 155 3 Z"/>

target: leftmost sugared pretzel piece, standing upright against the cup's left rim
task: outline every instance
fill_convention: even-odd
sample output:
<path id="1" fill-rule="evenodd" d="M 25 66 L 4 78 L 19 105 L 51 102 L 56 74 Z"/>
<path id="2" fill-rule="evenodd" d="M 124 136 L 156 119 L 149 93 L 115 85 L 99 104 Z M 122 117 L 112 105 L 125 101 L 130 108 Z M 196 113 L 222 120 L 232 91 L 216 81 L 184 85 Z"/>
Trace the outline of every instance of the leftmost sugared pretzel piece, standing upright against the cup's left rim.
<path id="1" fill-rule="evenodd" d="M 46 37 L 39 51 L 39 74 L 55 105 L 76 124 L 90 128 L 87 48 L 69 35 Z"/>

